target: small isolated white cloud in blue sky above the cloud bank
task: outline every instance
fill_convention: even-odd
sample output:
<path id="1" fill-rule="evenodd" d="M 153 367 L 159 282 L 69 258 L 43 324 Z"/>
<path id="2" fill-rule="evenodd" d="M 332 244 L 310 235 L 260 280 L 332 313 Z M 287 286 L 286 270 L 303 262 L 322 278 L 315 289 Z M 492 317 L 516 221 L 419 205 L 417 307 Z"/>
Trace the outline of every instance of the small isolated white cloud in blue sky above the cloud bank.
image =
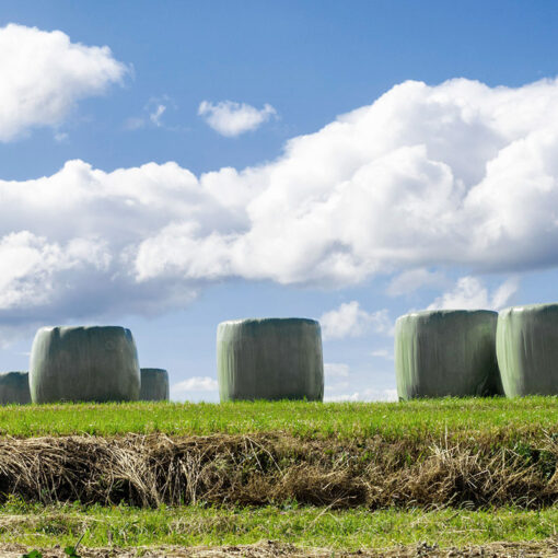
<path id="1" fill-rule="evenodd" d="M 258 109 L 233 101 L 221 101 L 217 104 L 202 101 L 198 108 L 198 115 L 202 116 L 213 130 L 230 138 L 259 128 L 276 114 L 277 111 L 267 103 Z"/>

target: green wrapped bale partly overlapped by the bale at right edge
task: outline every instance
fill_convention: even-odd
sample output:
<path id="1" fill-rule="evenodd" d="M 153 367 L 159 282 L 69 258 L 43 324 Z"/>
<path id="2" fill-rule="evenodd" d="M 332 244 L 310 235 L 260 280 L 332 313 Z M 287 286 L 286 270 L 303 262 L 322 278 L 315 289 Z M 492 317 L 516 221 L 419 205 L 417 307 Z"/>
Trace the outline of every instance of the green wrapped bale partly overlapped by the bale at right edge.
<path id="1" fill-rule="evenodd" d="M 487 310 L 414 312 L 395 324 L 399 399 L 501 395 L 498 314 Z"/>

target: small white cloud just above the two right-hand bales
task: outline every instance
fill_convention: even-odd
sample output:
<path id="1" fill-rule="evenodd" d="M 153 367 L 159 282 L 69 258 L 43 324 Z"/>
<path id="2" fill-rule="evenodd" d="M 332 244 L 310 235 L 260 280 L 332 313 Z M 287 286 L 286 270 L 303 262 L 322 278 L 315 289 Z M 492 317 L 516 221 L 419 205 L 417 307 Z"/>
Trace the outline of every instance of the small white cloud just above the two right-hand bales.
<path id="1" fill-rule="evenodd" d="M 512 277 L 500 284 L 490 295 L 488 289 L 476 277 L 462 277 L 455 287 L 430 304 L 429 310 L 500 310 L 519 289 L 519 279 Z"/>

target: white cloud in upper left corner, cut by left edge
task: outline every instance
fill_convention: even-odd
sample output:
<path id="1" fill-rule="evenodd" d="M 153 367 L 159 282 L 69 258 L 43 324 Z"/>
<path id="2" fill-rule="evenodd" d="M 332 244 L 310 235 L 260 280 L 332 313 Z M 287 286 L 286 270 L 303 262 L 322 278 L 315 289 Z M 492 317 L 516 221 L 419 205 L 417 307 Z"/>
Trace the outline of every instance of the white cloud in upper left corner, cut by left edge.
<path id="1" fill-rule="evenodd" d="M 0 27 L 0 141 L 56 127 L 79 100 L 104 93 L 126 72 L 106 46 L 71 43 L 60 31 Z"/>

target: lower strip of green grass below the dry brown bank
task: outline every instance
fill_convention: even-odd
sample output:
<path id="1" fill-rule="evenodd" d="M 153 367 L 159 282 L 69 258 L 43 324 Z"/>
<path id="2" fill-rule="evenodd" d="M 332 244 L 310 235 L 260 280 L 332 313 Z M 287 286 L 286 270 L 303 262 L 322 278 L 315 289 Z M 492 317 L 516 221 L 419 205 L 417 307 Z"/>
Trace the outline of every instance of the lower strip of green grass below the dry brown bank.
<path id="1" fill-rule="evenodd" d="M 11 501 L 0 507 L 0 539 L 28 547 L 98 546 L 219 546 L 281 540 L 304 547 L 358 550 L 414 545 L 441 547 L 507 542 L 543 542 L 556 536 L 558 509 L 525 511 L 385 510 L 345 511 L 316 508 L 266 507 L 221 509 L 79 504 L 42 507 Z"/>

